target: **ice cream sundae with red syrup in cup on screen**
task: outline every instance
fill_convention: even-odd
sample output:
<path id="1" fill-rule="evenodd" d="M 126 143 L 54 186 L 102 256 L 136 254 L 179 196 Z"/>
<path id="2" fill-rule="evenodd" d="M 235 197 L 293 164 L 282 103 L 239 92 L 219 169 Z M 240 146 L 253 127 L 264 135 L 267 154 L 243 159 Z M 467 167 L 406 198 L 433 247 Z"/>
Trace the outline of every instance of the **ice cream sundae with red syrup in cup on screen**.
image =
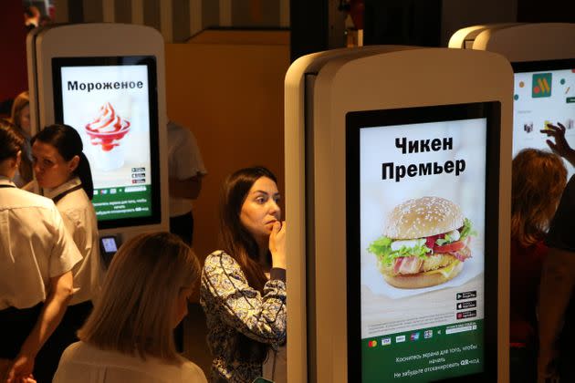
<path id="1" fill-rule="evenodd" d="M 123 166 L 122 139 L 130 131 L 130 125 L 130 121 L 116 113 L 110 102 L 102 105 L 98 117 L 86 124 L 86 134 L 96 151 L 96 168 L 111 171 Z"/>

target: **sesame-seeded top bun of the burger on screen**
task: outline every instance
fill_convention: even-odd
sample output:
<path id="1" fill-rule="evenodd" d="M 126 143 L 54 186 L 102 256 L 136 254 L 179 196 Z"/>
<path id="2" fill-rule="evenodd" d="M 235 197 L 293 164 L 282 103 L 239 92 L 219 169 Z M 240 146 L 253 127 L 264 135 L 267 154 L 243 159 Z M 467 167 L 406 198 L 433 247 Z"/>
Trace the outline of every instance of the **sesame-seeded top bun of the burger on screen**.
<path id="1" fill-rule="evenodd" d="M 392 239 L 424 238 L 458 229 L 463 226 L 464 218 L 454 202 L 441 197 L 422 197 L 397 205 L 383 234 Z"/>

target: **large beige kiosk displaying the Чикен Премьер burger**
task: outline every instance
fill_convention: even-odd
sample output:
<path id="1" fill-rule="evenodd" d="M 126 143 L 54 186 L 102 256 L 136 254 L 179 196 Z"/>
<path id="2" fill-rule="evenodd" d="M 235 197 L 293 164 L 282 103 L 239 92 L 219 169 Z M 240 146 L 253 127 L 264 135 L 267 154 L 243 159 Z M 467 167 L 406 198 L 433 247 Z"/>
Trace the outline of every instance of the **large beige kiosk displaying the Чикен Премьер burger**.
<path id="1" fill-rule="evenodd" d="M 342 49 L 289 68 L 288 381 L 507 381 L 498 254 L 511 164 L 499 158 L 511 151 L 512 82 L 504 57 L 446 48 Z M 429 196 L 465 215 L 453 237 L 390 233 L 394 209 Z M 471 257 L 423 273 L 424 286 L 390 283 L 398 259 L 417 261 L 404 250 L 423 256 L 435 234 L 460 250 L 465 237 Z"/>

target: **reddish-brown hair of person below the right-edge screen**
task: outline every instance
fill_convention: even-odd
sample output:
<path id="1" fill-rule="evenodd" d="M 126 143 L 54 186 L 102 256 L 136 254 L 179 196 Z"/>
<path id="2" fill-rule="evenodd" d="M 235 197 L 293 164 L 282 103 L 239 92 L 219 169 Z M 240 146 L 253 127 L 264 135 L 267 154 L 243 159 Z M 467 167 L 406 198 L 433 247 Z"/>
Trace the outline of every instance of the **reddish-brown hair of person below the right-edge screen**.
<path id="1" fill-rule="evenodd" d="M 567 170 L 558 155 L 526 149 L 513 159 L 511 191 L 511 237 L 522 246 L 537 243 L 565 189 Z"/>

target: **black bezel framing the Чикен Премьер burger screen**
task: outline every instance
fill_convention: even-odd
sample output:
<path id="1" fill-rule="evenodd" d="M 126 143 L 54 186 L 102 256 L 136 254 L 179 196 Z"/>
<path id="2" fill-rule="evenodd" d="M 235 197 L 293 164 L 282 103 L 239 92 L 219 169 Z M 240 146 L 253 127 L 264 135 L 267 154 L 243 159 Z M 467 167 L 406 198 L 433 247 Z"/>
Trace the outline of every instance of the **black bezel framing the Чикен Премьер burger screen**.
<path id="1" fill-rule="evenodd" d="M 484 276 L 484 371 L 442 381 L 497 381 L 497 305 L 499 243 L 499 147 L 501 105 L 498 101 L 353 111 L 346 115 L 346 233 L 348 380 L 361 381 L 360 130 L 457 119 L 486 118 L 486 227 Z M 488 223 L 488 224 L 487 224 Z M 486 281 L 492 281 L 486 283 Z"/>

